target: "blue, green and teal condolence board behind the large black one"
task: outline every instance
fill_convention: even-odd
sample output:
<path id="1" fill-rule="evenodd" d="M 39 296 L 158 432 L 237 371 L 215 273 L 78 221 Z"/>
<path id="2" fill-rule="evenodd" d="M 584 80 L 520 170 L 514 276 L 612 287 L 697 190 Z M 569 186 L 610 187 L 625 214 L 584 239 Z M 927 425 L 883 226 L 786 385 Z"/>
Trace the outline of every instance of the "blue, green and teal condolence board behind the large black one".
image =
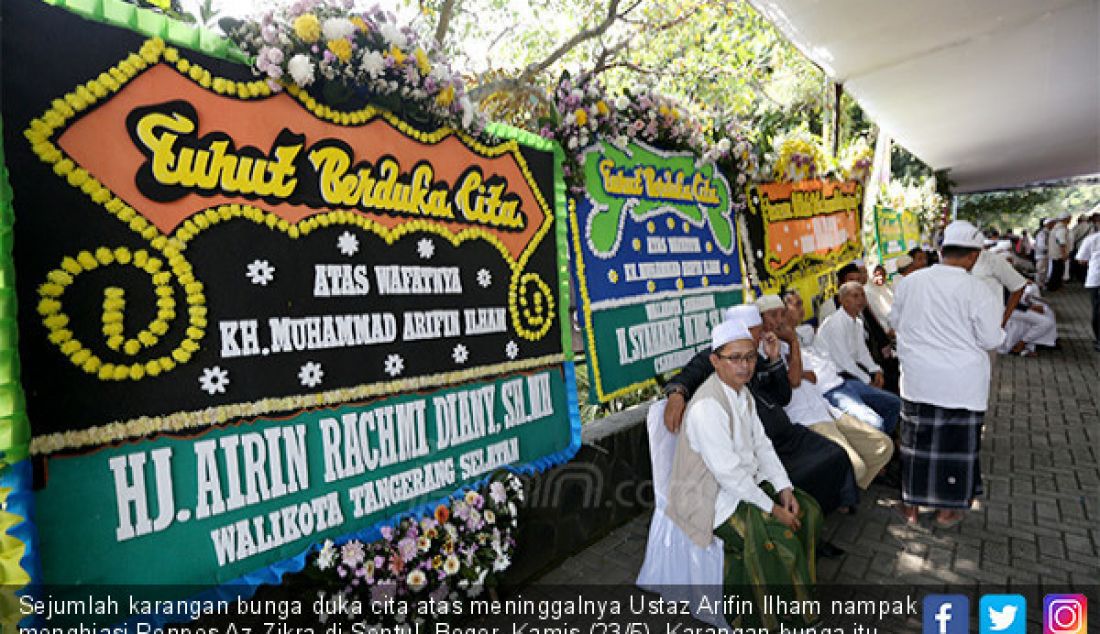
<path id="1" fill-rule="evenodd" d="M 740 302 L 733 190 L 686 152 L 601 142 L 570 214 L 593 402 L 651 385 Z"/>

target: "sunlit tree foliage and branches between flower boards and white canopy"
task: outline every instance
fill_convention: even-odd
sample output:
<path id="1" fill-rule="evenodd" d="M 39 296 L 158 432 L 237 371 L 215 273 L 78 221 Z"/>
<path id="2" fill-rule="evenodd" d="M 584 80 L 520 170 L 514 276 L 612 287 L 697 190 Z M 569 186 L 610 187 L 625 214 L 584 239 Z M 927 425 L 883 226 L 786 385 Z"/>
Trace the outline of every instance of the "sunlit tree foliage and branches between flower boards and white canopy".
<path id="1" fill-rule="evenodd" d="M 656 88 L 715 128 L 737 121 L 758 143 L 799 124 L 821 131 L 824 74 L 741 0 L 422 0 L 419 8 L 443 25 L 442 46 L 470 69 L 491 117 L 529 130 L 552 113 L 547 87 L 564 72 L 591 72 L 613 92 Z M 845 106 L 858 110 L 850 99 Z M 866 131 L 861 116 L 855 128 Z"/>

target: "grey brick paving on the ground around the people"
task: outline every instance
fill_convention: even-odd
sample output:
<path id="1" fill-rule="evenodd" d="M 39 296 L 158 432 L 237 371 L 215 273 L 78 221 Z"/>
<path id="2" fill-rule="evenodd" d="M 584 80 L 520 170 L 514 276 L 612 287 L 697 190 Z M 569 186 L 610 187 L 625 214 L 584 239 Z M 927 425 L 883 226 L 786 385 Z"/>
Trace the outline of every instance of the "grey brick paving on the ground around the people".
<path id="1" fill-rule="evenodd" d="M 1000 358 L 980 506 L 948 531 L 933 528 L 931 516 L 910 528 L 891 511 L 899 492 L 872 485 L 858 514 L 827 518 L 825 538 L 847 554 L 821 561 L 820 582 L 1100 584 L 1100 354 L 1080 286 L 1049 299 L 1060 348 Z M 614 531 L 537 583 L 632 584 L 649 518 Z"/>

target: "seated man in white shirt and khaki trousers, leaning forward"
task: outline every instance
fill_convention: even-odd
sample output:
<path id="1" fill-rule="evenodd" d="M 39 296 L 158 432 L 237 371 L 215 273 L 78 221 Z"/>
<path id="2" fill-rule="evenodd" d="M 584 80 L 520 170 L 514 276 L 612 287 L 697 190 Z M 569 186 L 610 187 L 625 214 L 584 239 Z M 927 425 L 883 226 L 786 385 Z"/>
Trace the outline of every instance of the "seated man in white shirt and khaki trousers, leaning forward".
<path id="1" fill-rule="evenodd" d="M 893 456 L 893 441 L 867 423 L 834 409 L 825 400 L 822 391 L 839 386 L 843 380 L 832 361 L 799 345 L 790 326 L 793 311 L 779 296 L 765 295 L 757 299 L 757 307 L 765 331 L 774 332 L 781 341 L 788 342 L 782 347 L 782 354 L 789 368 L 791 402 L 783 411 L 791 422 L 839 445 L 848 453 L 856 483 L 866 490 Z"/>

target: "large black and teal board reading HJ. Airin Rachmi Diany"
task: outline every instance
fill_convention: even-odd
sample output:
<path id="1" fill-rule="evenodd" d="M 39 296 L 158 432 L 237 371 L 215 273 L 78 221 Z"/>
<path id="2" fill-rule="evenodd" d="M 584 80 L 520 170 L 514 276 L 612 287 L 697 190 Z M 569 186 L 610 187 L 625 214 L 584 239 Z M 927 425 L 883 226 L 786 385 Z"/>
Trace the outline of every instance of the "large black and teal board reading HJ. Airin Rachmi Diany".
<path id="1" fill-rule="evenodd" d="M 3 23 L 43 583 L 273 582 L 575 452 L 554 145 L 36 0 Z"/>

